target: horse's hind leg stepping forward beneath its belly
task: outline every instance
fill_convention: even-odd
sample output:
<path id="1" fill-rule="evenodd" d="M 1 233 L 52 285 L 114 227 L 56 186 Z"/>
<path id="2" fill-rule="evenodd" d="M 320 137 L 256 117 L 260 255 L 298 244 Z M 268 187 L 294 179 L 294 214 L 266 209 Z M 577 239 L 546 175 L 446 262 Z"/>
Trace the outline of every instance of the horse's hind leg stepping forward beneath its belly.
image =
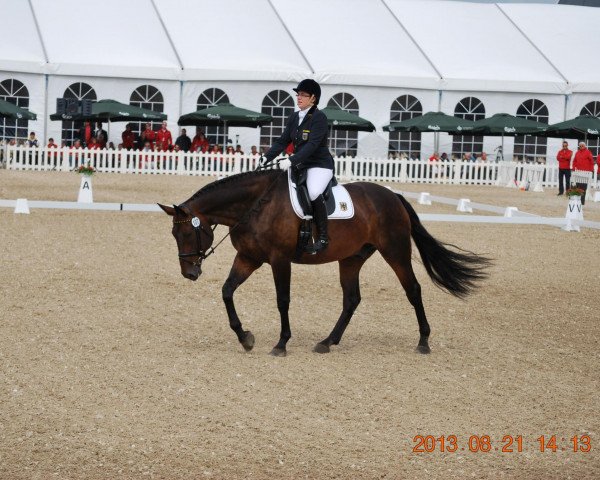
<path id="1" fill-rule="evenodd" d="M 360 304 L 360 286 L 358 276 L 360 269 L 371 256 L 374 249 L 370 250 L 368 255 L 354 255 L 339 261 L 340 283 L 344 292 L 344 304 L 340 318 L 329 336 L 315 345 L 314 351 L 317 353 L 329 353 L 331 345 L 338 345 L 346 327 L 354 315 L 354 311 Z"/>

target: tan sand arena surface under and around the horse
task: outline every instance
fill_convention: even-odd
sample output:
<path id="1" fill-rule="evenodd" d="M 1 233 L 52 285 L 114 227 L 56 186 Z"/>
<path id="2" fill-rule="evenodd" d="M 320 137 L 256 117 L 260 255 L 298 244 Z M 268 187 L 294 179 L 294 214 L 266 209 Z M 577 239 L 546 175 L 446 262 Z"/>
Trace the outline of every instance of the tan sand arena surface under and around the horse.
<path id="1" fill-rule="evenodd" d="M 94 199 L 179 203 L 207 181 L 98 175 Z M 0 170 L 3 199 L 74 201 L 78 187 L 74 174 Z M 566 208 L 549 190 L 394 187 L 548 216 Z M 600 220 L 600 204 L 584 214 Z M 376 254 L 328 355 L 311 350 L 341 311 L 337 266 L 293 267 L 293 337 L 273 358 L 268 266 L 235 296 L 254 350 L 229 329 L 228 241 L 193 283 L 166 215 L 0 209 L 0 478 L 600 478 L 600 231 L 425 226 L 496 259 L 467 301 L 415 259 L 431 355 L 414 352 L 415 314 Z M 416 435 L 456 435 L 458 450 L 413 453 Z M 470 452 L 472 435 L 489 435 L 492 450 Z M 523 451 L 501 452 L 505 435 L 522 435 Z M 541 453 L 540 435 L 556 435 L 558 451 Z M 573 452 L 574 435 L 590 435 L 592 450 Z"/>

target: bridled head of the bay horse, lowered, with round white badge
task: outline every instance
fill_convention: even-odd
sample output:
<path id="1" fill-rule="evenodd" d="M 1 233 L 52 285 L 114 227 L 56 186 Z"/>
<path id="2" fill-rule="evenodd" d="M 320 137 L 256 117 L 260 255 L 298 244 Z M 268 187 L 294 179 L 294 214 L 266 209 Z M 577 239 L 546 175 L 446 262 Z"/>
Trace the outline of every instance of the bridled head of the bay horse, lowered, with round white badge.
<path id="1" fill-rule="evenodd" d="M 173 236 L 179 249 L 181 274 L 189 280 L 198 280 L 202 274 L 202 260 L 208 255 L 214 236 L 206 217 L 191 212 L 184 205 L 158 204 L 167 215 L 173 217 Z"/>

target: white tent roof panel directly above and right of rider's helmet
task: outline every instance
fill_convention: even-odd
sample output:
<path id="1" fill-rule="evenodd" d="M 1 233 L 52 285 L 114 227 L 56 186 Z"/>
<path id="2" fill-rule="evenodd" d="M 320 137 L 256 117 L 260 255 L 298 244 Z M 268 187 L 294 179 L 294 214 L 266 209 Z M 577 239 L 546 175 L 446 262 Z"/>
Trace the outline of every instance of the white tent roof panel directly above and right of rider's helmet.
<path id="1" fill-rule="evenodd" d="M 439 88 L 439 75 L 383 3 L 272 1 L 318 81 Z M 299 10 L 314 12 L 310 26 Z"/>

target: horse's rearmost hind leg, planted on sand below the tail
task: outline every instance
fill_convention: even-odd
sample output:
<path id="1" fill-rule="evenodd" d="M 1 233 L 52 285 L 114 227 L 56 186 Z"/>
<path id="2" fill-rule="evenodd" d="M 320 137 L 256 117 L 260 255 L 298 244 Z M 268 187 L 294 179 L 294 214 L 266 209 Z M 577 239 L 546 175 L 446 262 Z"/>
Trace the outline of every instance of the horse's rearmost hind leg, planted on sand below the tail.
<path id="1" fill-rule="evenodd" d="M 402 255 L 398 255 L 397 252 L 395 254 L 381 252 L 381 254 L 390 267 L 392 267 L 392 270 L 394 270 L 394 273 L 398 277 L 398 280 L 400 280 L 400 283 L 406 292 L 408 301 L 411 303 L 417 314 L 417 321 L 419 322 L 419 344 L 417 345 L 416 351 L 419 353 L 430 353 L 429 334 L 431 333 L 431 328 L 427 322 L 425 308 L 423 307 L 421 285 L 419 285 L 412 268 L 410 248 L 406 249 L 406 252 L 407 253 Z"/>

